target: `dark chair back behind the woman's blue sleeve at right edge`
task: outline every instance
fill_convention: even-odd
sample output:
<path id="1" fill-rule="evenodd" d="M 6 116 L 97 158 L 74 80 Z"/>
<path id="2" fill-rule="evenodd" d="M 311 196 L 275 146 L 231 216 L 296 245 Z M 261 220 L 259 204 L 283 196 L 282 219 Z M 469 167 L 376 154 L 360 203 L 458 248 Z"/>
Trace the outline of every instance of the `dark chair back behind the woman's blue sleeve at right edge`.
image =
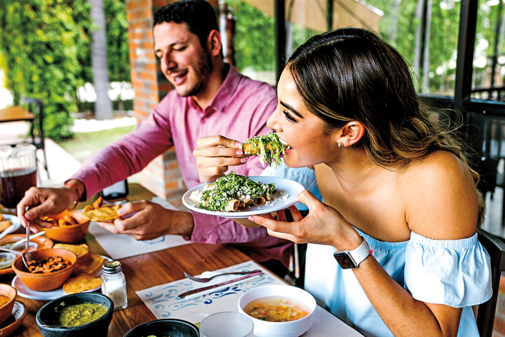
<path id="1" fill-rule="evenodd" d="M 478 229 L 479 242 L 484 246 L 491 258 L 491 286 L 493 295 L 486 303 L 479 305 L 477 311 L 477 327 L 481 337 L 491 337 L 493 334 L 494 314 L 498 299 L 498 288 L 501 272 L 505 271 L 505 242 L 503 239 Z"/>

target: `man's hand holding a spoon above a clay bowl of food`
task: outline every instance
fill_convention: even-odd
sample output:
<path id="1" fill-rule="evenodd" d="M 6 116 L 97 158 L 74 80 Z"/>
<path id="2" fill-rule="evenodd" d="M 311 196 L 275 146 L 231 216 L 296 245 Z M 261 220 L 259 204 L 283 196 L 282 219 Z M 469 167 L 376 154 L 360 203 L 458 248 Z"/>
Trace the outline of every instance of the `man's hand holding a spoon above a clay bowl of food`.
<path id="1" fill-rule="evenodd" d="M 54 216 L 65 211 L 74 201 L 78 200 L 78 191 L 72 186 L 61 188 L 31 187 L 17 206 L 18 218 L 26 227 L 27 220 L 43 216 Z M 26 211 L 26 208 L 30 210 Z M 30 228 L 32 228 L 30 226 Z M 34 230 L 38 230 L 33 226 Z"/>

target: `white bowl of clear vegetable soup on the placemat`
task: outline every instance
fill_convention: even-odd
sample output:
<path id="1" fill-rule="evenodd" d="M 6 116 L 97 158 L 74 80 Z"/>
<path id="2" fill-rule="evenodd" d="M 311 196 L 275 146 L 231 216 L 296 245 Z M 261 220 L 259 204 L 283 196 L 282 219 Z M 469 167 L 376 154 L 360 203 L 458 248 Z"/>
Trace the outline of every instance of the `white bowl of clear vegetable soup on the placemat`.
<path id="1" fill-rule="evenodd" d="M 314 323 L 316 300 L 295 286 L 263 285 L 240 296 L 238 311 L 252 318 L 257 337 L 297 337 Z"/>

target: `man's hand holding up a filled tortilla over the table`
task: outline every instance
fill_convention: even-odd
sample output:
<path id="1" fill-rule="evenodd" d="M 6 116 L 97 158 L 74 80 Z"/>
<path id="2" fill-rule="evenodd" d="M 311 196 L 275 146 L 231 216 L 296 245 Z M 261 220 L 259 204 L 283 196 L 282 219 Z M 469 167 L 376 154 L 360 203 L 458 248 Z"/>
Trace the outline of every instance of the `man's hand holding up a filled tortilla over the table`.
<path id="1" fill-rule="evenodd" d="M 165 234 L 190 237 L 193 232 L 193 216 L 189 212 L 173 211 L 150 201 L 135 201 L 124 204 L 114 223 L 99 222 L 102 228 L 115 234 L 129 234 L 136 240 L 149 240 Z"/>

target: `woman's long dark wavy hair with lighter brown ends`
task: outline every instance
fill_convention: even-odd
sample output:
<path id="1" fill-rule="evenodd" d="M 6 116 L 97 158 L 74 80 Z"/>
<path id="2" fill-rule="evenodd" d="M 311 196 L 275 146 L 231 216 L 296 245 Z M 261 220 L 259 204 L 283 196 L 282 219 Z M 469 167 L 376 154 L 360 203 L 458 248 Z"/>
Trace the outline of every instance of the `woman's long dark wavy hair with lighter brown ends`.
<path id="1" fill-rule="evenodd" d="M 468 167 L 459 125 L 433 120 L 416 93 L 405 59 L 377 34 L 341 28 L 311 37 L 287 62 L 306 107 L 328 130 L 359 121 L 365 134 L 355 147 L 375 164 L 406 168 L 435 150 L 449 151 Z M 484 202 L 479 195 L 479 218 Z"/>

